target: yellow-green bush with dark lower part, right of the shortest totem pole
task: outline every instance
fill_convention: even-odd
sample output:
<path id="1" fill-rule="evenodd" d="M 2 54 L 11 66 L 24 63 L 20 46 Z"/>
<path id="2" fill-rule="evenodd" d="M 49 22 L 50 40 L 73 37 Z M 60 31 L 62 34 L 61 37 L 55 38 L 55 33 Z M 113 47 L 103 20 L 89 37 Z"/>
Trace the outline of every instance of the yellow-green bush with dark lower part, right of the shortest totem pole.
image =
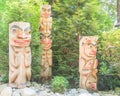
<path id="1" fill-rule="evenodd" d="M 103 32 L 98 43 L 100 90 L 120 87 L 120 30 Z"/>

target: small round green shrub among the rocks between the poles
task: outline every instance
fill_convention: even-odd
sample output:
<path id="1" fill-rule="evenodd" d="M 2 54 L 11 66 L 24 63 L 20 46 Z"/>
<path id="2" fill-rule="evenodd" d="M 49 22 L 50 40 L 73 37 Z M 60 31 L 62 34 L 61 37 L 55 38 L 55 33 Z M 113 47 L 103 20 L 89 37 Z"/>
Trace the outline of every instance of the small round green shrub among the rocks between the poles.
<path id="1" fill-rule="evenodd" d="M 63 76 L 55 76 L 52 79 L 51 86 L 52 86 L 52 90 L 54 92 L 62 93 L 62 92 L 67 90 L 67 88 L 69 86 L 69 83 L 68 83 L 68 80 L 65 77 L 63 77 Z"/>

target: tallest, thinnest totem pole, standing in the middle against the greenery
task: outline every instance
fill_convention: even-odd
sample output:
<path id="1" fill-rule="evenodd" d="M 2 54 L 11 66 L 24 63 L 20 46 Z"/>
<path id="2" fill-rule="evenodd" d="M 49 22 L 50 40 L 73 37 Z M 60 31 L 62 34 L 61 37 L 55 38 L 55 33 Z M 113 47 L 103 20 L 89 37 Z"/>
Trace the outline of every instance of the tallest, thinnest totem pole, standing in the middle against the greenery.
<path id="1" fill-rule="evenodd" d="M 42 5 L 41 17 L 40 17 L 40 45 L 42 46 L 41 55 L 41 72 L 40 77 L 42 82 L 46 82 L 52 77 L 52 50 L 51 50 L 51 29 L 52 29 L 52 17 L 51 6 Z"/>

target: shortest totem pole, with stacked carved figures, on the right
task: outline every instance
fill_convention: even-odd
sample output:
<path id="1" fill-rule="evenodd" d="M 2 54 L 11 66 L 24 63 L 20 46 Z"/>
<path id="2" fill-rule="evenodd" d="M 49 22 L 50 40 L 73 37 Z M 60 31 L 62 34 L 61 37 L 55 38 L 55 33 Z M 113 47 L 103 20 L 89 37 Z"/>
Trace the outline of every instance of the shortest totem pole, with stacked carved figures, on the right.
<path id="1" fill-rule="evenodd" d="M 96 59 L 97 37 L 81 36 L 79 41 L 79 72 L 81 88 L 97 91 L 97 65 Z"/>

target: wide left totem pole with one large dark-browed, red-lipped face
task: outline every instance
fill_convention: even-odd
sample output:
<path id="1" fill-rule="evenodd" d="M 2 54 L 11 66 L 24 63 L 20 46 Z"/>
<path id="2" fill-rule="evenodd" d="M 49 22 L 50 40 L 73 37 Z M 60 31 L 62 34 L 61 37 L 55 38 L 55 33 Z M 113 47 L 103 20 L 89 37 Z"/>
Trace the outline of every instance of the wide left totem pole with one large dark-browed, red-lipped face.
<path id="1" fill-rule="evenodd" d="M 9 24 L 9 86 L 26 87 L 31 78 L 30 24 Z"/>

